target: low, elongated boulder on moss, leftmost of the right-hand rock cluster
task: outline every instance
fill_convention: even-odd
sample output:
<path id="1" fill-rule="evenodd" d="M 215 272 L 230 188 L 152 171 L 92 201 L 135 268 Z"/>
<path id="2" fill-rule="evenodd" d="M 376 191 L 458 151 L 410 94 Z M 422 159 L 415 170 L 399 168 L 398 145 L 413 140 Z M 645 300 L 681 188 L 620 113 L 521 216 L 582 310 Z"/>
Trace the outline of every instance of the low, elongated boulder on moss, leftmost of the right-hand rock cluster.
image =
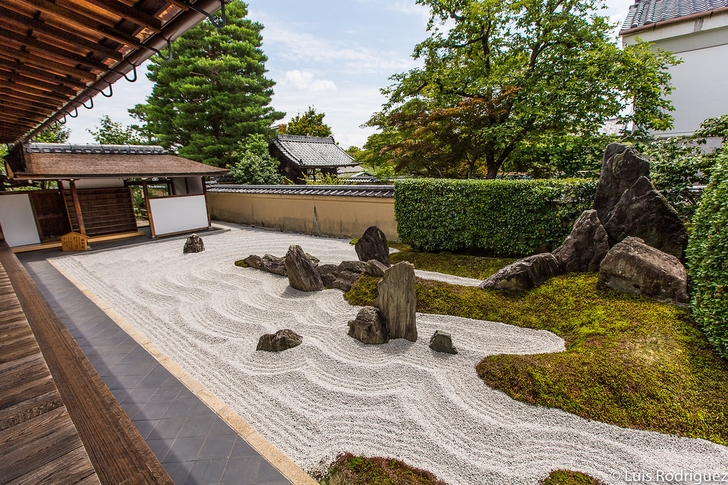
<path id="1" fill-rule="evenodd" d="M 544 281 L 561 274 L 558 261 L 550 252 L 534 254 L 507 265 L 480 284 L 482 289 L 499 289 L 505 292 L 525 292 L 540 286 Z"/>

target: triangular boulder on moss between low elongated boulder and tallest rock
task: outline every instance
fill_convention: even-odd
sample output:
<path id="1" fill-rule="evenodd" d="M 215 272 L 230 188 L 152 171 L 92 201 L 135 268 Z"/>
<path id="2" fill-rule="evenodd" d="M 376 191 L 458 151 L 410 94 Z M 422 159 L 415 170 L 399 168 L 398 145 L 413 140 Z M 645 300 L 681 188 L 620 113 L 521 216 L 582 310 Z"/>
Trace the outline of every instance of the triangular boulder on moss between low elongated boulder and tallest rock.
<path id="1" fill-rule="evenodd" d="M 586 210 L 579 216 L 571 234 L 551 254 L 564 273 L 598 271 L 599 263 L 609 251 L 609 236 L 601 225 L 596 210 Z"/>

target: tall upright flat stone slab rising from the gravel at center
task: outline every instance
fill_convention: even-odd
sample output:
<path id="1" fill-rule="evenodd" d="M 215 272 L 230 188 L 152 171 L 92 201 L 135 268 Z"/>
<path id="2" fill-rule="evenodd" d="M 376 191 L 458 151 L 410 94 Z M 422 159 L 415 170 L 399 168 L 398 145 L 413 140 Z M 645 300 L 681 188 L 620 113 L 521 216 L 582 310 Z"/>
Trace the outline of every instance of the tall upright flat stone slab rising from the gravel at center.
<path id="1" fill-rule="evenodd" d="M 398 262 L 384 271 L 379 281 L 379 296 L 374 300 L 374 306 L 387 321 L 389 338 L 417 341 L 414 281 L 414 265 L 407 261 Z"/>

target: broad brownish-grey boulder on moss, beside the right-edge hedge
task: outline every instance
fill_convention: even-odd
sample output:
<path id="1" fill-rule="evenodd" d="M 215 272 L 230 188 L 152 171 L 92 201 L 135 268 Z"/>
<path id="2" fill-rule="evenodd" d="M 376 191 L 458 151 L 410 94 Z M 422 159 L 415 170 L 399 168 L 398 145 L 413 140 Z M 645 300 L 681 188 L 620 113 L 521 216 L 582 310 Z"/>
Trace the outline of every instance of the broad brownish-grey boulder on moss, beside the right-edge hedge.
<path id="1" fill-rule="evenodd" d="M 627 237 L 604 257 L 599 281 L 619 292 L 638 294 L 670 305 L 687 307 L 687 272 L 673 256 Z"/>

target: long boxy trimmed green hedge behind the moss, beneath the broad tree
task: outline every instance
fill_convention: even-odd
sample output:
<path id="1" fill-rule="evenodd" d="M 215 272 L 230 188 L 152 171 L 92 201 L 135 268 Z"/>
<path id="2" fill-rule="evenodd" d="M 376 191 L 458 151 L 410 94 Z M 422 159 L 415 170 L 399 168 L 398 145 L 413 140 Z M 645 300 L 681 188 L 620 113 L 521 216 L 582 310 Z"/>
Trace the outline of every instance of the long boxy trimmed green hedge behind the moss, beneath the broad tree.
<path id="1" fill-rule="evenodd" d="M 524 256 L 559 246 L 598 180 L 412 179 L 395 183 L 400 241 L 438 252 Z"/>

